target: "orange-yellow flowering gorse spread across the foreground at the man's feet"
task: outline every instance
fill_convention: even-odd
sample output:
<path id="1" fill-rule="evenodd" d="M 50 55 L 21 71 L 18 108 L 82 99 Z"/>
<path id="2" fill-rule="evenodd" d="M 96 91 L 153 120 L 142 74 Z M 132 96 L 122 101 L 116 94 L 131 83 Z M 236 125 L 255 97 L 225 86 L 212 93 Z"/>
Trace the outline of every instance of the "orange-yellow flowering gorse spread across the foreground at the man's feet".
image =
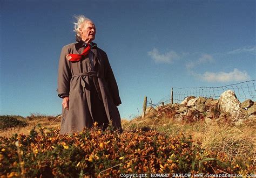
<path id="1" fill-rule="evenodd" d="M 183 134 L 170 137 L 146 128 L 118 133 L 112 128 L 102 131 L 93 127 L 66 135 L 60 135 L 58 129 L 41 127 L 37 132 L 34 128 L 28 136 L 0 137 L 0 153 L 0 176 L 10 177 L 246 174 L 255 168 L 253 161 L 241 165 L 228 161 L 223 153 L 206 151 Z"/>

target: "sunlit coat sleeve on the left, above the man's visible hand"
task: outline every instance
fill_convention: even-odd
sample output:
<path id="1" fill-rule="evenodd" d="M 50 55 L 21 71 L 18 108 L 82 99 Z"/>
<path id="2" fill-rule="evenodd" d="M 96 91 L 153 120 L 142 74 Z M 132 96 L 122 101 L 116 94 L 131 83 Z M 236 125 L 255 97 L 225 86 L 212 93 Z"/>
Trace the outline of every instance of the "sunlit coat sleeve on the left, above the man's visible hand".
<path id="1" fill-rule="evenodd" d="M 71 70 L 70 61 L 66 60 L 66 55 L 68 55 L 68 48 L 63 47 L 62 52 L 59 57 L 59 68 L 58 68 L 58 96 L 69 96 L 70 90 L 70 80 L 71 80 Z"/>

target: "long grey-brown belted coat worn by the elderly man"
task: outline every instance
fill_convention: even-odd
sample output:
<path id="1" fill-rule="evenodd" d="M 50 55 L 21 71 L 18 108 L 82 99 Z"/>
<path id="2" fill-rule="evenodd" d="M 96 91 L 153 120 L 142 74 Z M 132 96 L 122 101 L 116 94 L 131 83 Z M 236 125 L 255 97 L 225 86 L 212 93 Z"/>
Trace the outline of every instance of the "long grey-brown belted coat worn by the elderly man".
<path id="1" fill-rule="evenodd" d="M 82 131 L 84 127 L 91 127 L 93 118 L 91 85 L 97 90 L 100 100 L 103 102 L 104 113 L 109 123 L 122 131 L 120 115 L 117 106 L 121 104 L 118 86 L 106 53 L 93 43 L 91 51 L 94 54 L 93 68 L 95 73 L 90 73 L 92 66 L 89 55 L 80 61 L 69 61 L 68 54 L 80 54 L 84 50 L 83 42 L 75 42 L 62 48 L 58 69 L 58 96 L 69 95 L 69 110 L 62 107 L 62 122 L 60 134 Z M 89 80 L 90 78 L 90 80 Z M 93 83 L 91 82 L 93 79 Z M 93 106 L 97 107 L 97 106 Z M 103 109 L 103 110 L 104 110 Z M 99 112 L 102 112 L 102 110 Z"/>

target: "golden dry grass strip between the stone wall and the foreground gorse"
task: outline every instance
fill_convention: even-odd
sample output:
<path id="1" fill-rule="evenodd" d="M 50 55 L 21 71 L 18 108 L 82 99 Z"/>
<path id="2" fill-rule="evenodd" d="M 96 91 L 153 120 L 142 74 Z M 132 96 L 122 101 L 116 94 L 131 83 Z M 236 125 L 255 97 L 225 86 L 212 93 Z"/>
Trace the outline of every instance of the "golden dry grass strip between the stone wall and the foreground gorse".
<path id="1" fill-rule="evenodd" d="M 200 120 L 194 123 L 177 122 L 170 118 L 136 118 L 123 125 L 124 130 L 134 130 L 142 127 L 156 129 L 177 136 L 180 132 L 191 135 L 193 140 L 201 143 L 210 151 L 223 152 L 231 161 L 254 160 L 256 164 L 256 123 L 248 122 L 240 126 L 228 122 Z"/>

